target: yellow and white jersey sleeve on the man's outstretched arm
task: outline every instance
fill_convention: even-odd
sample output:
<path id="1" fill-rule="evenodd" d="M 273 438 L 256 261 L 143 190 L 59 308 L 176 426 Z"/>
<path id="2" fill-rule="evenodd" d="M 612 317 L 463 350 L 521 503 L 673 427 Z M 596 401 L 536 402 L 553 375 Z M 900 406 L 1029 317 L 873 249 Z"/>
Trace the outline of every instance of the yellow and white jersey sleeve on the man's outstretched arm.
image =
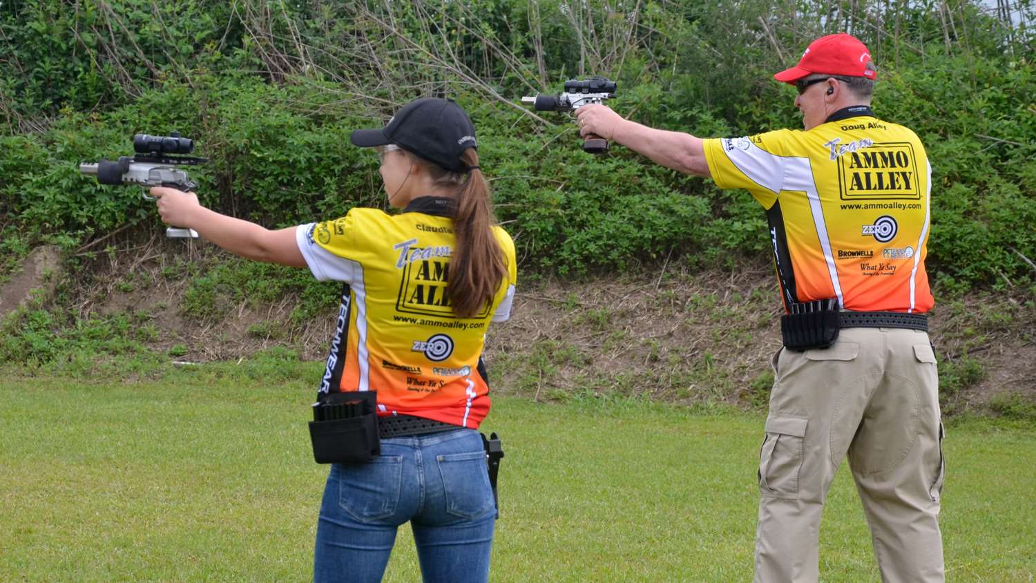
<path id="1" fill-rule="evenodd" d="M 784 185 L 784 143 L 789 130 L 704 140 L 706 162 L 720 188 L 745 188 L 765 208 Z"/>

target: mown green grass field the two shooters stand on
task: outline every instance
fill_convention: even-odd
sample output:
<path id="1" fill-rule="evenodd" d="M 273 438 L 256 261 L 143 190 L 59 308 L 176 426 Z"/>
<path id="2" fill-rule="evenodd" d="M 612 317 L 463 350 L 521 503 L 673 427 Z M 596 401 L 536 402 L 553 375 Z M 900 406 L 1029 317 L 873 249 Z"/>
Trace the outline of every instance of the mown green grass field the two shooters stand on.
<path id="1" fill-rule="evenodd" d="M 312 388 L 255 376 L 0 380 L 0 581 L 310 579 L 326 472 L 309 449 Z M 492 580 L 750 580 L 761 425 L 726 408 L 497 398 Z M 946 451 L 948 579 L 1033 581 L 1036 428 L 959 419 Z M 824 581 L 880 580 L 844 468 L 821 538 Z M 406 528 L 385 580 L 420 581 Z"/>

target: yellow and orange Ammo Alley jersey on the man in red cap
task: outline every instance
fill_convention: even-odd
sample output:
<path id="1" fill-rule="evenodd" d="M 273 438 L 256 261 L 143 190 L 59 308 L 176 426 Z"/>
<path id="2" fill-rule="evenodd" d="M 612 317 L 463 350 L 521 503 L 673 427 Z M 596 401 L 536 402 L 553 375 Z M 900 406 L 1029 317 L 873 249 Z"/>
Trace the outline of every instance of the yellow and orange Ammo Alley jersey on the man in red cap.
<path id="1" fill-rule="evenodd" d="M 846 108 L 809 132 L 704 141 L 721 188 L 767 209 L 785 305 L 928 312 L 931 166 L 910 129 Z"/>

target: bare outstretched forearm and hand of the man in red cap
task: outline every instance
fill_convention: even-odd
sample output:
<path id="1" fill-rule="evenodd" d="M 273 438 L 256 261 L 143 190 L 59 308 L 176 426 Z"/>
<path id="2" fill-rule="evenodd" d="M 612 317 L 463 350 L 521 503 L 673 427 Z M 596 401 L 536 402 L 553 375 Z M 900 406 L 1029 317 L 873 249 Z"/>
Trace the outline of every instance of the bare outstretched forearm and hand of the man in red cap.
<path id="1" fill-rule="evenodd" d="M 594 134 L 618 142 L 666 168 L 684 174 L 712 177 L 706 163 L 704 144 L 682 132 L 667 132 L 623 119 L 617 113 L 602 105 L 583 106 L 576 110 L 579 134 Z"/>

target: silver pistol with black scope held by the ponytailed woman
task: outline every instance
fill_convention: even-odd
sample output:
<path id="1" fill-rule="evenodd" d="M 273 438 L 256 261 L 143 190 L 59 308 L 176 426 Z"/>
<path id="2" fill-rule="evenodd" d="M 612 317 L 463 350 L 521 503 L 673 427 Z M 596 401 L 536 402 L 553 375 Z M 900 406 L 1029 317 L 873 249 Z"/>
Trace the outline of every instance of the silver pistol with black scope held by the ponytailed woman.
<path id="1" fill-rule="evenodd" d="M 138 184 L 144 186 L 144 198 L 151 201 L 154 197 L 147 194 L 151 186 L 169 186 L 184 193 L 191 193 L 198 183 L 191 180 L 182 170 L 184 166 L 195 166 L 208 162 L 208 158 L 186 156 L 194 150 L 194 140 L 180 138 L 173 132 L 170 136 L 148 136 L 136 134 L 133 137 L 133 156 L 119 156 L 115 162 L 102 159 L 96 164 L 83 163 L 79 170 L 83 174 L 96 176 L 102 184 Z M 169 227 L 166 236 L 179 239 L 196 239 L 198 232 L 194 229 Z"/>

